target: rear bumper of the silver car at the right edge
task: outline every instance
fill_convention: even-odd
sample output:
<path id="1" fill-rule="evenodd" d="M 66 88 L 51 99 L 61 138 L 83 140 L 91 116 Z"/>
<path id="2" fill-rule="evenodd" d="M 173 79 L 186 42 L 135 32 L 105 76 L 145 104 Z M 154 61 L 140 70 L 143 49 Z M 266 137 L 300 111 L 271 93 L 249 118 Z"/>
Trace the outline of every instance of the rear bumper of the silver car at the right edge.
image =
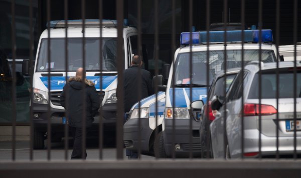
<path id="1" fill-rule="evenodd" d="M 259 130 L 251 129 L 245 130 L 244 132 L 244 153 L 258 152 L 259 151 L 259 140 L 261 139 L 261 156 L 272 156 L 276 154 L 276 136 L 266 136 L 261 133 L 259 139 Z M 294 137 L 293 136 L 279 136 L 278 151 L 280 155 L 292 155 L 294 153 Z M 230 146 L 230 144 L 229 144 Z M 231 150 L 231 147 L 230 147 Z M 296 153 L 301 153 L 301 136 L 296 136 Z M 231 157 L 240 157 L 241 149 L 231 150 Z M 253 157 L 257 157 L 255 155 Z M 246 157 L 246 156 L 245 156 Z"/>

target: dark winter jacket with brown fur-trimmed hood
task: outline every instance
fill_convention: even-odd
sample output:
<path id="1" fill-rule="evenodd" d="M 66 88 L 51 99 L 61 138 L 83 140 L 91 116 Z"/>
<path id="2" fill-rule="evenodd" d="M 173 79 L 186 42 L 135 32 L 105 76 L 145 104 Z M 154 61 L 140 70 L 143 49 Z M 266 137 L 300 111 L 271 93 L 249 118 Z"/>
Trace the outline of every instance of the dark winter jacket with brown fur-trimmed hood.
<path id="1" fill-rule="evenodd" d="M 85 87 L 83 87 L 80 78 L 70 77 L 60 96 L 61 105 L 67 109 L 67 118 L 70 126 L 82 127 L 84 91 L 86 96 L 86 127 L 92 126 L 92 122 L 94 121 L 93 116 L 98 112 L 100 98 L 94 83 L 91 80 L 85 79 Z M 67 92 L 68 99 L 66 98 Z M 67 101 L 68 108 L 66 108 Z"/>

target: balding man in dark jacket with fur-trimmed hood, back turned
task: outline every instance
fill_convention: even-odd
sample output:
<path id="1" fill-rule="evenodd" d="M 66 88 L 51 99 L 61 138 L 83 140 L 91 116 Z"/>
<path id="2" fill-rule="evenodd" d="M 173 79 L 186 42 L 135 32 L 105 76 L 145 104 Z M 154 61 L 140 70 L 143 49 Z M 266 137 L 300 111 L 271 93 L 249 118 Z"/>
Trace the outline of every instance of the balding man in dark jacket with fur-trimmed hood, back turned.
<path id="1" fill-rule="evenodd" d="M 83 80 L 85 84 L 83 84 Z M 67 92 L 68 98 L 66 98 Z M 85 101 L 83 101 L 83 94 L 85 94 Z M 67 122 L 74 140 L 71 159 L 86 158 L 86 151 L 85 155 L 82 155 L 83 105 L 85 102 L 85 121 L 86 127 L 88 128 L 92 126 L 92 122 L 94 121 L 93 117 L 98 113 L 100 99 L 94 83 L 85 78 L 83 68 L 78 68 L 75 77 L 68 79 L 61 93 L 60 102 L 67 110 Z M 67 108 L 66 102 L 68 102 Z"/>

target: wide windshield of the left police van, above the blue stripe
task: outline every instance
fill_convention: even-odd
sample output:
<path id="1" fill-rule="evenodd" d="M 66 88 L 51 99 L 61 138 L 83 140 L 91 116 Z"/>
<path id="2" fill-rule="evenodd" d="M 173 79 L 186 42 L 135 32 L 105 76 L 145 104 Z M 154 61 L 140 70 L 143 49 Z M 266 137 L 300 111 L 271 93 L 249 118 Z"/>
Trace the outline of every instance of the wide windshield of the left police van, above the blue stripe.
<path id="1" fill-rule="evenodd" d="M 67 38 L 68 71 L 83 67 L 83 38 Z M 37 71 L 48 71 L 48 38 L 43 38 L 40 46 Z M 99 38 L 85 38 L 85 69 L 99 71 Z M 50 39 L 50 70 L 65 71 L 65 38 Z M 102 70 L 117 70 L 117 38 L 102 38 Z"/>

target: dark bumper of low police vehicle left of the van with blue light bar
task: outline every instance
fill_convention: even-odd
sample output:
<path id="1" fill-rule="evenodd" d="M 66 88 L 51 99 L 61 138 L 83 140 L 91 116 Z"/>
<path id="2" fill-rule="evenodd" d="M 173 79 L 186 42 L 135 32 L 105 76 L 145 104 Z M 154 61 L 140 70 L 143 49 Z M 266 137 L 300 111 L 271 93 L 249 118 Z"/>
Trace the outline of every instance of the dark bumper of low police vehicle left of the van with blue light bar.
<path id="1" fill-rule="evenodd" d="M 140 138 L 139 138 L 139 120 L 140 120 Z M 142 153 L 150 154 L 149 138 L 153 129 L 149 127 L 149 118 L 131 118 L 123 125 L 123 142 L 126 149 L 138 151 L 139 147 Z M 140 142 L 139 142 L 140 140 Z"/>

